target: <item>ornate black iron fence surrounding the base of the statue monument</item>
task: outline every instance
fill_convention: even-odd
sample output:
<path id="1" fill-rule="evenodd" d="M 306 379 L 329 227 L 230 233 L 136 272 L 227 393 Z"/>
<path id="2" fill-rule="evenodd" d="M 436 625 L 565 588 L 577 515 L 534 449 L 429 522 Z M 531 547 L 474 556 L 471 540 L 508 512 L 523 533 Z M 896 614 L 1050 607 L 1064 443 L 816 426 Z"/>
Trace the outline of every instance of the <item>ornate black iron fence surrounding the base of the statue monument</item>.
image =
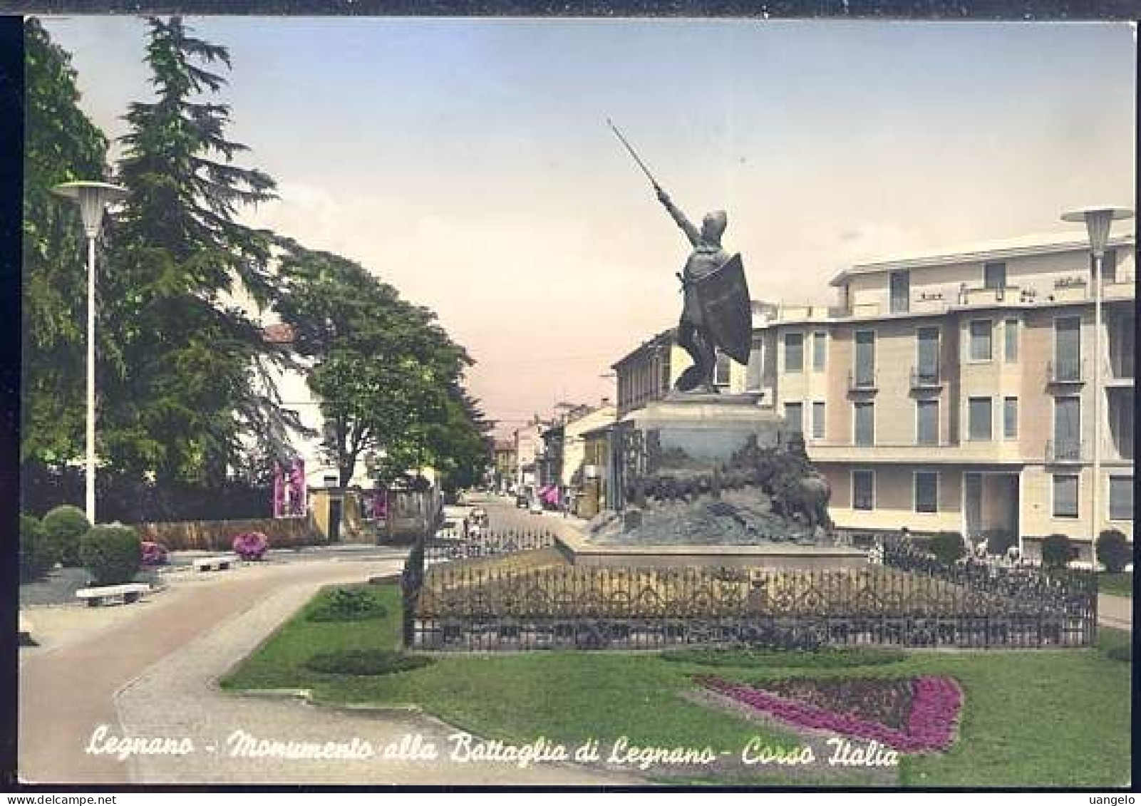
<path id="1" fill-rule="evenodd" d="M 559 562 L 550 535 L 495 535 L 460 558 L 404 572 L 405 644 L 423 650 L 661 648 L 677 645 L 954 647 L 1087 646 L 1097 580 L 1082 572 L 948 569 L 883 546 L 859 570 L 612 569 Z M 459 542 L 459 541 L 458 541 Z M 472 554 L 475 553 L 475 554 Z"/>

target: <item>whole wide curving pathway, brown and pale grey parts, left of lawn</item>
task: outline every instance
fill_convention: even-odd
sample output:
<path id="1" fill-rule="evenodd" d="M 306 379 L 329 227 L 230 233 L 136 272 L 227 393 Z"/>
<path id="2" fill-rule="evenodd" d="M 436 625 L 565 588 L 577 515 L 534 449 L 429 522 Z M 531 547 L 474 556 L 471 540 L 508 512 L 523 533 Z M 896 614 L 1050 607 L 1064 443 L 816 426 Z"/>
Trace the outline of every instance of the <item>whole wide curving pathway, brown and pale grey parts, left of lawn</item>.
<path id="1" fill-rule="evenodd" d="M 195 577 L 130 606 L 33 611 L 42 645 L 22 650 L 19 769 L 44 783 L 623 783 L 568 766 L 229 758 L 236 731 L 280 741 L 370 741 L 419 734 L 447 749 L 454 731 L 416 711 L 363 712 L 299 700 L 224 694 L 217 678 L 323 585 L 398 570 L 399 561 L 339 557 Z M 188 739 L 184 756 L 120 760 L 84 750 L 113 736 Z M 105 745 L 105 744 L 104 744 Z M 211 751 L 213 748 L 213 751 Z"/>

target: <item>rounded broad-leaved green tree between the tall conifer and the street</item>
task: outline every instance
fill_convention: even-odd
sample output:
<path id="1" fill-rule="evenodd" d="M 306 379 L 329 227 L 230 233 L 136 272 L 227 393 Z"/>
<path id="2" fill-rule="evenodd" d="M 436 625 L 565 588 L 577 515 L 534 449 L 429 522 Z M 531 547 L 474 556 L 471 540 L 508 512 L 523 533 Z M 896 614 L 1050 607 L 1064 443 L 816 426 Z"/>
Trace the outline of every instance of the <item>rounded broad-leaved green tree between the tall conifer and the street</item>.
<path id="1" fill-rule="evenodd" d="M 351 260 L 282 245 L 278 312 L 311 368 L 308 384 L 321 398 L 325 450 L 340 483 L 365 457 L 382 482 L 427 465 L 471 465 L 478 412 L 460 387 L 471 360 L 435 314 Z"/>

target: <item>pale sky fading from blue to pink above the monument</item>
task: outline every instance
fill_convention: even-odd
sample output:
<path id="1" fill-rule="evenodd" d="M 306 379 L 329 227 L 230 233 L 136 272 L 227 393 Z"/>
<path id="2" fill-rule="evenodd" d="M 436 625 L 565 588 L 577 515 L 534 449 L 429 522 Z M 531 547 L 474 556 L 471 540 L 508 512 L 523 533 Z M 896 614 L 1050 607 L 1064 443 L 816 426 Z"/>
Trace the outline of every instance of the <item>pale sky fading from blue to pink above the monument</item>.
<path id="1" fill-rule="evenodd" d="M 680 313 L 674 201 L 728 211 L 754 299 L 830 303 L 844 265 L 1073 229 L 1134 199 L 1130 24 L 215 17 L 251 212 L 428 305 L 502 429 L 614 394 Z M 144 25 L 48 19 L 110 136 Z"/>

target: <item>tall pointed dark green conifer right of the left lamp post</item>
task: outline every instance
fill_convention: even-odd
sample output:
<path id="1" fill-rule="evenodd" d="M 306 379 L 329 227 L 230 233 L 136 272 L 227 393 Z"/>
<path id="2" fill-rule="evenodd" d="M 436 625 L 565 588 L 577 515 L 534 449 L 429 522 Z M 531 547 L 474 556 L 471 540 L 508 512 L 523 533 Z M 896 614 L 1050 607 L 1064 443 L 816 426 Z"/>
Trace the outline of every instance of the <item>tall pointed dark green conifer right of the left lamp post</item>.
<path id="1" fill-rule="evenodd" d="M 272 235 L 235 220 L 274 199 L 275 185 L 234 164 L 248 148 L 226 139 L 229 107 L 211 99 L 226 80 L 208 68 L 230 66 L 226 48 L 179 17 L 148 25 L 155 99 L 126 115 L 118 172 L 130 195 L 102 305 L 114 349 L 100 379 L 100 453 L 160 483 L 210 484 L 238 462 L 243 430 L 281 443 L 289 425 L 269 373 L 285 348 L 236 301 L 275 297 Z"/>

